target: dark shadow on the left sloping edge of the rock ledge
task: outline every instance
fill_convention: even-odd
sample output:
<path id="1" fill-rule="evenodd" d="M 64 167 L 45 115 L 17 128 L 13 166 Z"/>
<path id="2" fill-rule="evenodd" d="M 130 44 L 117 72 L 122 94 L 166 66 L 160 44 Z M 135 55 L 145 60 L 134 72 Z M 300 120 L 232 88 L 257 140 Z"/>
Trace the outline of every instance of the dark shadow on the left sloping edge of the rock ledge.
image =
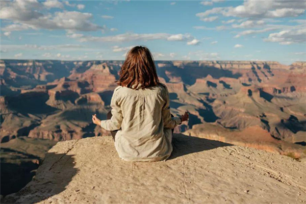
<path id="1" fill-rule="evenodd" d="M 1 203 L 36 203 L 61 193 L 78 173 L 74 163 L 73 155 L 67 152 L 47 153 L 32 182 L 19 192 L 5 196 Z M 64 203 L 64 200 L 59 202 Z"/>

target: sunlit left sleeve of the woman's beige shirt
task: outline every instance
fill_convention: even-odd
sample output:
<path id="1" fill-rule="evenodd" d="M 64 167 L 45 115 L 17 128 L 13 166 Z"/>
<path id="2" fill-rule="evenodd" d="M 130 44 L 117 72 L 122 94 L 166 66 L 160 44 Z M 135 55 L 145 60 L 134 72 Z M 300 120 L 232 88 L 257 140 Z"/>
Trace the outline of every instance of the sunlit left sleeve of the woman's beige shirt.
<path id="1" fill-rule="evenodd" d="M 116 131 L 121 128 L 123 116 L 121 107 L 118 104 L 118 97 L 116 94 L 116 91 L 114 91 L 114 94 L 111 99 L 111 113 L 112 117 L 108 120 L 101 120 L 101 127 L 107 131 Z"/>

